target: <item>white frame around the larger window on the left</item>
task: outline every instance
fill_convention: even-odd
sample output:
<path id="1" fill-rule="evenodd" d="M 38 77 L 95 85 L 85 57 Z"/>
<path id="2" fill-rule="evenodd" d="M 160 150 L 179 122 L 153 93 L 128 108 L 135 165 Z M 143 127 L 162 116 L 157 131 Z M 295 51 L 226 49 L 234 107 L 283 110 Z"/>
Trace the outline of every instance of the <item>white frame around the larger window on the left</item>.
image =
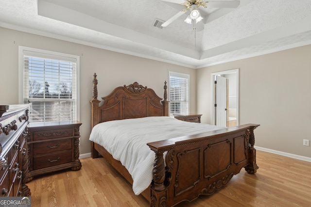
<path id="1" fill-rule="evenodd" d="M 76 120 L 80 120 L 80 56 L 38 48 L 18 46 L 18 103 L 24 104 L 24 56 L 56 59 L 76 64 Z M 48 101 L 45 99 L 45 101 Z M 50 122 L 50 121 L 49 121 Z M 43 122 L 42 122 L 43 123 Z"/>

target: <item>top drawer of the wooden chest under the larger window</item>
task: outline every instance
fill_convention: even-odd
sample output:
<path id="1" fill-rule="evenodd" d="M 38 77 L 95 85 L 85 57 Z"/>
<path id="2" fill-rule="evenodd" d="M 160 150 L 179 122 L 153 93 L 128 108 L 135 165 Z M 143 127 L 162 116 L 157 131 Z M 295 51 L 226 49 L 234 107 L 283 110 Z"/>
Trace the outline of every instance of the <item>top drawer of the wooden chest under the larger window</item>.
<path id="1" fill-rule="evenodd" d="M 54 129 L 54 130 L 34 131 L 33 133 L 34 133 L 33 134 L 34 141 L 62 138 L 62 137 L 71 137 L 72 128 L 59 128 L 59 129 Z"/>

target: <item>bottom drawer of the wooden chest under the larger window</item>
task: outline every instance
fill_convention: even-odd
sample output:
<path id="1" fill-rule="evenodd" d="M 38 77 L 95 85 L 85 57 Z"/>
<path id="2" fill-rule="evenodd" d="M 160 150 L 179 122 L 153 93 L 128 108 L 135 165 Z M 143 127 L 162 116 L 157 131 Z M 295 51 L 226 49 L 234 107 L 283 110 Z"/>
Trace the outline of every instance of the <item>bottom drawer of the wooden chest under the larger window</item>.
<path id="1" fill-rule="evenodd" d="M 72 151 L 34 157 L 34 170 L 52 167 L 72 161 Z"/>

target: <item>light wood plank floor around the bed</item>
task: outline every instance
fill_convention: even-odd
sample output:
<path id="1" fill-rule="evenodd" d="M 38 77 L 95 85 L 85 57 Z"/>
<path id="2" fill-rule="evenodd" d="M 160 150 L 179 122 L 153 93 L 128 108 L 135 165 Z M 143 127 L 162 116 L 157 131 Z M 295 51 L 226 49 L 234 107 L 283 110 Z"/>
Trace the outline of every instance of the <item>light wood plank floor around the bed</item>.
<path id="1" fill-rule="evenodd" d="M 81 159 L 79 171 L 37 176 L 27 185 L 32 207 L 148 207 L 103 158 Z M 257 151 L 259 170 L 244 169 L 211 196 L 177 207 L 310 207 L 311 162 Z"/>

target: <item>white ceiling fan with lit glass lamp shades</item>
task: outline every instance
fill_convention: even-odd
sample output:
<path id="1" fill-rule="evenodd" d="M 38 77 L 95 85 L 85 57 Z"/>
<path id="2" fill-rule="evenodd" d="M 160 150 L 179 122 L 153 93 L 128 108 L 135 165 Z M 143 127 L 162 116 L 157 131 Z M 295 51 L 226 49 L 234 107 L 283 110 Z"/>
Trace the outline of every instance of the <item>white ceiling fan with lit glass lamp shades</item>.
<path id="1" fill-rule="evenodd" d="M 169 18 L 166 22 L 164 22 L 161 26 L 166 27 L 175 21 L 178 17 L 186 14 L 190 11 L 190 14 L 185 19 L 186 23 L 192 24 L 200 22 L 203 17 L 201 16 L 199 7 L 203 8 L 237 8 L 240 5 L 240 0 L 161 0 L 170 3 L 178 3 L 185 6 L 185 9 L 178 12 L 176 15 Z"/>

